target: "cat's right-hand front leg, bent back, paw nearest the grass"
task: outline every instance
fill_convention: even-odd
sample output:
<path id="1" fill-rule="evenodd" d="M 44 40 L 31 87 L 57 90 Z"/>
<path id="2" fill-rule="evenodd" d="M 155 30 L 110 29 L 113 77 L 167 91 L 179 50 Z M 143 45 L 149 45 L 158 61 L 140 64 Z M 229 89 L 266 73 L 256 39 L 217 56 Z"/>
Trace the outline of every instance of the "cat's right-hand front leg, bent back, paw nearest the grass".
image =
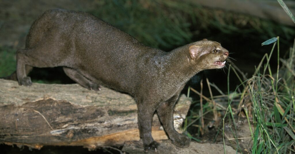
<path id="1" fill-rule="evenodd" d="M 172 143 L 180 148 L 186 148 L 189 147 L 191 140 L 186 135 L 179 134 L 173 126 L 173 109 L 178 96 L 174 95 L 167 102 L 162 103 L 157 113 Z"/>

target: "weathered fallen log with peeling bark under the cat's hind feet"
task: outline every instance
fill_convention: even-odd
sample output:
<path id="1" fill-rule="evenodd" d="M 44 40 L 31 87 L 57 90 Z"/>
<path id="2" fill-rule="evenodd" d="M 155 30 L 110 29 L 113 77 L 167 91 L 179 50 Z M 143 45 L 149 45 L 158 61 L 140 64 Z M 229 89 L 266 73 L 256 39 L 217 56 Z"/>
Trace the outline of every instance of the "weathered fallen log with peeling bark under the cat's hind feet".
<path id="1" fill-rule="evenodd" d="M 174 127 L 181 125 L 191 101 L 182 95 L 174 109 Z M 158 116 L 153 118 L 155 140 L 167 139 Z M 105 87 L 87 90 L 78 84 L 19 86 L 0 79 L 0 143 L 97 147 L 140 140 L 137 107 L 130 95 Z"/>

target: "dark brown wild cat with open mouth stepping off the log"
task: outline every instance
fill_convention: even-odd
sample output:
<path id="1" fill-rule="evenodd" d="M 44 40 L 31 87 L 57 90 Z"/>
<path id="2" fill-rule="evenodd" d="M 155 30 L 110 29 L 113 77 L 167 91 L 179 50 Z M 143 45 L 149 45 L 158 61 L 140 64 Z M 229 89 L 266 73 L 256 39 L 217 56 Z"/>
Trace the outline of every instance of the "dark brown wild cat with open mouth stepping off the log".
<path id="1" fill-rule="evenodd" d="M 203 40 L 163 52 L 84 12 L 49 10 L 32 25 L 25 49 L 17 51 L 19 85 L 32 84 L 32 67 L 63 66 L 81 86 L 99 85 L 132 95 L 145 151 L 158 146 L 151 135 L 157 111 L 172 143 L 185 148 L 190 139 L 173 127 L 173 107 L 186 82 L 204 69 L 222 68 L 228 51 Z"/>

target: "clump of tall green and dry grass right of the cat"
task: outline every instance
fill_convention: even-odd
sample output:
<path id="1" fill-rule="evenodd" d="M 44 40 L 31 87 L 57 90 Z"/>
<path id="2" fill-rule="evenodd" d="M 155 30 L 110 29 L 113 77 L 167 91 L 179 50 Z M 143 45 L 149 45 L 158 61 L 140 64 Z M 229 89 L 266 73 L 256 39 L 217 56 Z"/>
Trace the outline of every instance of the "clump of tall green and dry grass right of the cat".
<path id="1" fill-rule="evenodd" d="M 266 54 L 266 64 L 264 67 L 262 67 L 263 65 L 259 65 L 253 77 L 244 82 L 246 83 L 246 87 L 244 87 L 242 93 L 245 95 L 241 94 L 241 102 L 247 102 L 247 97 L 252 102 L 250 108 L 242 106 L 240 108 L 246 112 L 249 123 L 249 116 L 251 115 L 248 115 L 248 110 L 252 111 L 251 117 L 255 125 L 252 136 L 253 154 L 295 152 L 292 148 L 295 144 L 295 49 L 290 49 L 288 59 L 277 59 L 278 61 L 281 60 L 284 62 L 283 66 L 277 70 L 276 75 L 273 76 L 269 60 L 276 45 L 278 46 L 277 52 L 279 55 L 278 41 L 279 39 L 277 37 L 277 42 L 273 44 L 270 54 Z M 295 47 L 295 42 L 293 47 Z M 260 64 L 263 61 L 264 58 Z M 277 68 L 279 68 L 279 63 Z M 266 70 L 268 70 L 268 73 Z M 232 100 L 230 100 L 231 103 Z M 230 108 L 229 105 L 229 115 L 232 116 L 234 113 L 232 113 Z"/>

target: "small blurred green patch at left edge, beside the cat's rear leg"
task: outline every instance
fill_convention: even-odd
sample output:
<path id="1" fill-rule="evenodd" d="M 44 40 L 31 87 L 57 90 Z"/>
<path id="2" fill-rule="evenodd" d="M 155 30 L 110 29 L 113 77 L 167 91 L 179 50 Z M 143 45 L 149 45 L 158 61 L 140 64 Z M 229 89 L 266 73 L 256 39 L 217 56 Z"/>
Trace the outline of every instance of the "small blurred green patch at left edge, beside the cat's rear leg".
<path id="1" fill-rule="evenodd" d="M 0 48 L 0 77 L 8 76 L 16 70 L 16 50 Z"/>

